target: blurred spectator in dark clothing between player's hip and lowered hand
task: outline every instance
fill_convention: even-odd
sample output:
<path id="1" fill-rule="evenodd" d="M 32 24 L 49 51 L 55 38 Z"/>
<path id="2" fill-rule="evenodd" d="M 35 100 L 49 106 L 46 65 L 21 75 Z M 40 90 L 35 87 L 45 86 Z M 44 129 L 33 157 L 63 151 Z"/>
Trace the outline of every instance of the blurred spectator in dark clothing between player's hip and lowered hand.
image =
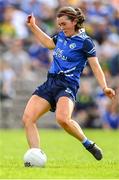
<path id="1" fill-rule="evenodd" d="M 98 111 L 88 80 L 82 81 L 80 92 L 77 94 L 74 116 L 82 127 L 100 127 L 100 122 L 95 121 L 98 118 Z"/>

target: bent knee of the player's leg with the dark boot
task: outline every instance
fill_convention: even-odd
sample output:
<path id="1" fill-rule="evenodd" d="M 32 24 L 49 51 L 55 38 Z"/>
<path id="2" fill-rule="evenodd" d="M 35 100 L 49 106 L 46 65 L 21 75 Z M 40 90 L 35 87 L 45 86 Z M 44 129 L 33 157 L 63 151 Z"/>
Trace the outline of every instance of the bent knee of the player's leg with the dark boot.
<path id="1" fill-rule="evenodd" d="M 68 118 L 66 115 L 64 114 L 57 114 L 56 115 L 56 120 L 57 122 L 62 126 L 67 126 L 67 121 L 68 121 Z"/>

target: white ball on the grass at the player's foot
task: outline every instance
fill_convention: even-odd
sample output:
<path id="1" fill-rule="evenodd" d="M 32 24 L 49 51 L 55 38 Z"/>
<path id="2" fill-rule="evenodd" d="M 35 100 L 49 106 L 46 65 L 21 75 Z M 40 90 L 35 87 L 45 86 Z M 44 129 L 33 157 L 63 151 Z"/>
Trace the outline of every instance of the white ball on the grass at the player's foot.
<path id="1" fill-rule="evenodd" d="M 25 167 L 44 167 L 47 162 L 46 154 L 38 148 L 31 148 L 24 154 Z"/>

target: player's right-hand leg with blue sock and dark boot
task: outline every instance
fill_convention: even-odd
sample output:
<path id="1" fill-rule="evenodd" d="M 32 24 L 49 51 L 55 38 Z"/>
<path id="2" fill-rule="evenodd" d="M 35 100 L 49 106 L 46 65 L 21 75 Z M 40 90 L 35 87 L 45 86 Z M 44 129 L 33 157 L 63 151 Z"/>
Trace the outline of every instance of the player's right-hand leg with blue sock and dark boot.
<path id="1" fill-rule="evenodd" d="M 93 154 L 97 160 L 102 159 L 101 149 L 92 141 L 88 140 L 77 122 L 71 119 L 74 104 L 68 97 L 61 97 L 57 102 L 56 119 L 69 134 L 83 143 L 85 148 Z"/>

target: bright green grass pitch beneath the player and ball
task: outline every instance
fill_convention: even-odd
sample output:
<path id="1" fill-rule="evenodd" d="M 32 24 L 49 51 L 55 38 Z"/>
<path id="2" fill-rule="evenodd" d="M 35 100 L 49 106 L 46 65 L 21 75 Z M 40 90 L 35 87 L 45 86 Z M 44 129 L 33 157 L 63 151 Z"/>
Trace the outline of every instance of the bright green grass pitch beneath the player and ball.
<path id="1" fill-rule="evenodd" d="M 104 151 L 96 161 L 79 141 L 63 130 L 39 130 L 47 154 L 45 168 L 24 167 L 28 145 L 23 130 L 0 130 L 0 179 L 118 179 L 119 131 L 84 130 Z"/>

